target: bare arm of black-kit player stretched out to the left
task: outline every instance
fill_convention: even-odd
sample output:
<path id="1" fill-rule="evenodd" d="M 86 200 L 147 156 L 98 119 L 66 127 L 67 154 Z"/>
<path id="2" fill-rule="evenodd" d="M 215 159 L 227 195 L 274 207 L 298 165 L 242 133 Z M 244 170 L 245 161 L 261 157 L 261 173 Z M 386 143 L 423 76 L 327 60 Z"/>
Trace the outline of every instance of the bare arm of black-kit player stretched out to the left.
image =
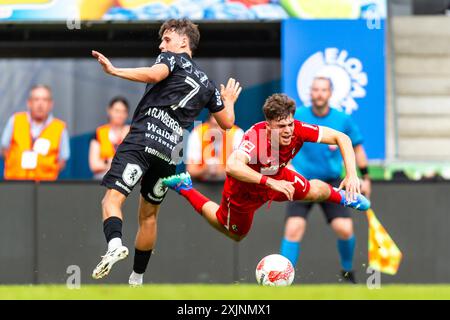
<path id="1" fill-rule="evenodd" d="M 156 64 L 152 67 L 143 68 L 116 68 L 100 52 L 92 50 L 92 56 L 100 63 L 103 71 L 119 78 L 136 82 L 157 83 L 169 76 L 169 68 L 165 64 Z"/>

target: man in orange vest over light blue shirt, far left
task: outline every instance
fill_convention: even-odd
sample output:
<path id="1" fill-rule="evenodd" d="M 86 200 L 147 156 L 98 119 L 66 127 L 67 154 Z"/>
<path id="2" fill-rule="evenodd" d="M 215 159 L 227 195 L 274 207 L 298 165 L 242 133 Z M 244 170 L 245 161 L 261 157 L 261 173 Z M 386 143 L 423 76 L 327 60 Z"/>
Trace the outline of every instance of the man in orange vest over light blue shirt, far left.
<path id="1" fill-rule="evenodd" d="M 31 88 L 28 112 L 9 118 L 2 135 L 5 180 L 54 181 L 70 157 L 66 124 L 53 117 L 50 87 Z"/>

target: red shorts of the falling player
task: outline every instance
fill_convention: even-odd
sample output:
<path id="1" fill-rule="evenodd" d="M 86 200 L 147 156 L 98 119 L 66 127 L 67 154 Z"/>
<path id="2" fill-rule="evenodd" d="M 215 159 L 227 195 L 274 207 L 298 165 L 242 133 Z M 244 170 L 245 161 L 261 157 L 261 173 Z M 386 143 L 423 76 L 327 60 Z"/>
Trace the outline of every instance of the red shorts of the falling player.
<path id="1" fill-rule="evenodd" d="M 308 194 L 309 181 L 297 172 L 283 168 L 278 175 L 272 178 L 294 182 L 294 200 L 303 200 Z M 272 200 L 288 201 L 284 193 L 274 191 L 267 186 L 227 177 L 216 216 L 230 232 L 243 236 L 250 231 L 255 211 L 267 201 Z"/>

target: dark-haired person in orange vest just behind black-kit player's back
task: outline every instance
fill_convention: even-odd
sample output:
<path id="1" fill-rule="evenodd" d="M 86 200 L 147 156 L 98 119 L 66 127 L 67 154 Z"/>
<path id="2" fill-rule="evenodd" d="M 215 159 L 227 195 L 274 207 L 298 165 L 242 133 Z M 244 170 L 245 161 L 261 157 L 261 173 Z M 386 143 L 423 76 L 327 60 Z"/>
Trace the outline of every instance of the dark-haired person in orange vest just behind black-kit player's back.
<path id="1" fill-rule="evenodd" d="M 109 103 L 109 122 L 97 128 L 89 146 L 89 168 L 94 179 L 102 179 L 108 172 L 117 147 L 130 131 L 126 124 L 129 110 L 128 101 L 123 97 L 115 97 Z"/>

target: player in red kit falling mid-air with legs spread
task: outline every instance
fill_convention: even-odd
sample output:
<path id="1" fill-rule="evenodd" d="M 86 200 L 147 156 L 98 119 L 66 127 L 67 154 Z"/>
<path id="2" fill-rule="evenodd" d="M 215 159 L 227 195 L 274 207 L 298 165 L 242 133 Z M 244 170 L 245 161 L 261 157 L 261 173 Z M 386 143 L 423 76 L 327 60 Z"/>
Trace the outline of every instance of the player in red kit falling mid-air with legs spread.
<path id="1" fill-rule="evenodd" d="M 214 228 L 236 241 L 248 234 L 255 211 L 268 201 L 328 201 L 361 211 L 369 209 L 369 200 L 361 195 L 350 138 L 328 127 L 294 120 L 295 109 L 295 102 L 284 94 L 266 100 L 266 121 L 253 125 L 227 160 L 220 205 L 194 189 L 188 173 L 170 176 L 163 183 L 184 196 Z M 321 180 L 309 181 L 286 167 L 307 142 L 339 147 L 346 176 L 338 189 Z"/>

